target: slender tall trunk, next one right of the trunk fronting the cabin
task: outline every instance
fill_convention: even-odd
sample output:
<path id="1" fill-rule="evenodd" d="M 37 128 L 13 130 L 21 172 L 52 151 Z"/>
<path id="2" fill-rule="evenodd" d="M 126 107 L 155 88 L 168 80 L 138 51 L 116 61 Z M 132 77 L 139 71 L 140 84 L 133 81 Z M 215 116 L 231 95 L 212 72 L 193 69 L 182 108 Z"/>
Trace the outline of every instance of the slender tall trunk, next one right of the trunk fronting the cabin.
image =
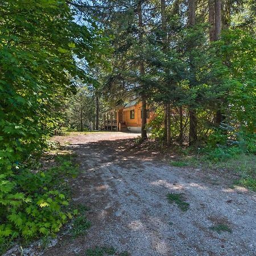
<path id="1" fill-rule="evenodd" d="M 163 52 L 167 51 L 167 20 L 166 20 L 166 0 L 161 0 L 161 23 L 163 31 Z M 166 73 L 168 71 L 166 70 Z M 171 115 L 170 103 L 164 104 L 164 133 L 166 137 L 167 146 L 171 144 Z"/>

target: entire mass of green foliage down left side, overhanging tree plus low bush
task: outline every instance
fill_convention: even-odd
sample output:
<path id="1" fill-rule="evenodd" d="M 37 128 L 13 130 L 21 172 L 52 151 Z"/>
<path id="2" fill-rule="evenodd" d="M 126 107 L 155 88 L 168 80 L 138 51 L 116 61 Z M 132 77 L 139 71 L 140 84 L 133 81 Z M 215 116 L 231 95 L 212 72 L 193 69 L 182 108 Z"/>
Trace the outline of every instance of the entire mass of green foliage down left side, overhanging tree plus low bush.
<path id="1" fill-rule="evenodd" d="M 0 238 L 9 243 L 51 236 L 72 218 L 67 159 L 49 170 L 37 162 L 59 127 L 75 79 L 94 84 L 86 69 L 100 62 L 107 40 L 92 19 L 64 0 L 0 3 Z M 81 60 L 83 67 L 77 64 Z"/>

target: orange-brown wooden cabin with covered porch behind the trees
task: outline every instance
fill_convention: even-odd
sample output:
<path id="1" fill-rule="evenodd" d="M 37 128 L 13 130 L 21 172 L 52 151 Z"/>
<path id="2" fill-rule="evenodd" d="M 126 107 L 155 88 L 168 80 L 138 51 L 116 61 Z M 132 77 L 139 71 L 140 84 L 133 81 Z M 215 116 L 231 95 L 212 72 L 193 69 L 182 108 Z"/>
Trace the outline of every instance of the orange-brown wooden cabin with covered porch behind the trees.
<path id="1" fill-rule="evenodd" d="M 141 132 L 141 102 L 131 101 L 122 108 L 111 109 L 104 114 L 104 129 Z M 154 118 L 154 109 L 147 109 L 147 123 Z"/>

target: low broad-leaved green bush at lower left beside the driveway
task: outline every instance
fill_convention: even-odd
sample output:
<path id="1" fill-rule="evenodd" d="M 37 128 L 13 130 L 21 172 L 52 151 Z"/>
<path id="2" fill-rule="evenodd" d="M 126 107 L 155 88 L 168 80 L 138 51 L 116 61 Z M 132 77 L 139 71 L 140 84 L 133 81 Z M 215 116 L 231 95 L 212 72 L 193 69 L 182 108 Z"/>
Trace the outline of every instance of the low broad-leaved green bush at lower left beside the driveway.
<path id="1" fill-rule="evenodd" d="M 77 168 L 70 160 L 59 158 L 57 166 L 31 172 L 16 166 L 0 175 L 0 240 L 8 243 L 22 237 L 25 241 L 51 236 L 72 218 L 64 178 L 74 177 Z M 60 164 L 61 162 L 61 164 Z"/>

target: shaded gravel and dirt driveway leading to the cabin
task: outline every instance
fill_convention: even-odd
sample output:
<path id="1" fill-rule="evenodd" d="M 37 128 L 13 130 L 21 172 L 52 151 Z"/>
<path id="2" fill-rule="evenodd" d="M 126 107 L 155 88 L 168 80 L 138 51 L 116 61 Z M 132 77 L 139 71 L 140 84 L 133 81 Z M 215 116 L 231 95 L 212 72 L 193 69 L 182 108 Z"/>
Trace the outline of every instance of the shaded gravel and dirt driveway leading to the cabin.
<path id="1" fill-rule="evenodd" d="M 76 152 L 77 203 L 90 208 L 84 237 L 64 237 L 44 255 L 85 255 L 95 246 L 150 255 L 256 255 L 256 196 L 220 175 L 171 167 L 157 152 L 131 149 L 129 133 L 60 137 Z M 167 193 L 184 193 L 187 212 Z M 211 226 L 228 226 L 218 233 Z"/>

